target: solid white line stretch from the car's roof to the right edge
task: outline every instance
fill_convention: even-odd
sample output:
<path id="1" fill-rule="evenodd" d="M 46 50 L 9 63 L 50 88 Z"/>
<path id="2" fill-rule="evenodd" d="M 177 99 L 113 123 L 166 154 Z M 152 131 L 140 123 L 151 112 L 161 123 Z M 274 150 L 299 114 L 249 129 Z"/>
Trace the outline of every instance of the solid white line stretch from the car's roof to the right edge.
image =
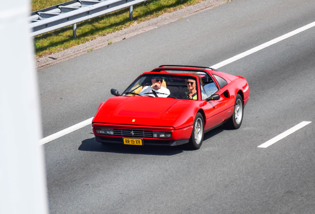
<path id="1" fill-rule="evenodd" d="M 236 55 L 236 56 L 233 56 L 233 57 L 231 57 L 231 58 L 229 58 L 229 59 L 226 59 L 226 60 L 224 60 L 224 61 L 222 61 L 222 62 L 219 62 L 219 63 L 217 63 L 217 64 L 215 64 L 215 65 L 212 65 L 212 66 L 210 66 L 210 67 L 211 67 L 211 68 L 214 68 L 214 69 L 223 67 L 224 65 L 227 65 L 227 64 L 229 64 L 229 63 L 231 63 L 231 62 L 234 62 L 234 61 L 236 61 L 236 60 L 238 60 L 238 59 L 241 59 L 241 58 L 243 58 L 243 57 L 245 57 L 245 56 L 248 56 L 248 55 L 250 55 L 250 54 L 253 54 L 253 53 L 255 53 L 255 52 L 258 52 L 258 51 L 260 51 L 260 50 L 262 50 L 262 49 L 264 49 L 264 48 L 266 48 L 266 47 L 268 47 L 268 46 L 271 46 L 271 45 L 273 45 L 273 44 L 275 44 L 275 43 L 278 43 L 278 42 L 280 42 L 280 41 L 282 41 L 282 40 L 285 40 L 285 39 L 287 39 L 287 38 L 289 38 L 289 37 L 291 37 L 291 36 L 294 36 L 294 35 L 296 35 L 296 34 L 298 34 L 298 33 L 301 33 L 301 32 L 303 32 L 303 31 L 305 31 L 305 30 L 307 30 L 307 29 L 310 29 L 310 28 L 312 28 L 312 27 L 314 27 L 314 26 L 315 26 L 315 22 L 312 22 L 312 23 L 310 23 L 310 24 L 308 24 L 308 25 L 305 25 L 304 27 L 301 27 L 301 28 L 299 28 L 299 29 L 296 29 L 296 30 L 294 30 L 294 31 L 292 31 L 292 32 L 290 32 L 290 33 L 284 34 L 283 36 L 280 36 L 280 37 L 278 37 L 278 38 L 275 38 L 275 39 L 273 39 L 273 40 L 271 40 L 271 41 L 269 41 L 269 42 L 266 42 L 266 43 L 264 43 L 264 44 L 262 44 L 262 45 L 260 45 L 260 46 L 257 46 L 257 47 L 255 47 L 255 48 L 253 48 L 253 49 L 251 49 L 251 50 L 246 51 L 246 52 L 243 52 L 242 54 L 238 54 L 238 55 Z"/>

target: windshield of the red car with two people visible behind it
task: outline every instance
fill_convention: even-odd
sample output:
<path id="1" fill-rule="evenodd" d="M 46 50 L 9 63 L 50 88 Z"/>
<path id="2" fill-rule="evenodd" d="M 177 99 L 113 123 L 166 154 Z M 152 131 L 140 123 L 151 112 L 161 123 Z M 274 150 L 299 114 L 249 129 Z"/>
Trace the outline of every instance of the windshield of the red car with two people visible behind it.
<path id="1" fill-rule="evenodd" d="M 185 75 L 144 74 L 122 96 L 163 97 L 198 100 L 197 78 Z"/>

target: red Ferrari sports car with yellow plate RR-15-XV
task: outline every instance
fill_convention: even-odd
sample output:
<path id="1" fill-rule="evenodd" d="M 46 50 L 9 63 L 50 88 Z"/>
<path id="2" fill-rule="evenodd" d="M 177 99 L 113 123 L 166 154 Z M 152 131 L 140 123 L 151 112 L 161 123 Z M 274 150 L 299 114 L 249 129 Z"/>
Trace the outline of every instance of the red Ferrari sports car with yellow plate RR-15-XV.
<path id="1" fill-rule="evenodd" d="M 97 142 L 126 145 L 202 145 L 204 133 L 226 122 L 238 129 L 249 100 L 244 77 L 209 67 L 161 65 L 141 74 L 93 118 Z"/>

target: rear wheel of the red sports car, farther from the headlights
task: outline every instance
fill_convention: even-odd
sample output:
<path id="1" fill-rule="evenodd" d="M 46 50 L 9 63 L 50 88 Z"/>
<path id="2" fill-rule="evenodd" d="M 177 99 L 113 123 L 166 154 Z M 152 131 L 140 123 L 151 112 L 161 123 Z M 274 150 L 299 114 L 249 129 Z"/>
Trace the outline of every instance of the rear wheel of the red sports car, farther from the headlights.
<path id="1" fill-rule="evenodd" d="M 227 126 L 231 129 L 238 129 L 243 121 L 243 99 L 240 94 L 237 94 L 234 104 L 234 111 L 232 117 L 228 120 Z"/>

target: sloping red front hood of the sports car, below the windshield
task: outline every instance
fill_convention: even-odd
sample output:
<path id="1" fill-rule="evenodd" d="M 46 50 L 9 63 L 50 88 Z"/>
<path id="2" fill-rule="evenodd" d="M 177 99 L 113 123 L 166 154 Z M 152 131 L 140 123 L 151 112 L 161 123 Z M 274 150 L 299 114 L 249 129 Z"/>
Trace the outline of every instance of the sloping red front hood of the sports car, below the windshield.
<path id="1" fill-rule="evenodd" d="M 173 98 L 112 97 L 101 104 L 93 122 L 164 127 L 174 127 L 176 123 L 178 128 L 192 123 L 187 119 L 177 121 L 192 102 Z"/>

